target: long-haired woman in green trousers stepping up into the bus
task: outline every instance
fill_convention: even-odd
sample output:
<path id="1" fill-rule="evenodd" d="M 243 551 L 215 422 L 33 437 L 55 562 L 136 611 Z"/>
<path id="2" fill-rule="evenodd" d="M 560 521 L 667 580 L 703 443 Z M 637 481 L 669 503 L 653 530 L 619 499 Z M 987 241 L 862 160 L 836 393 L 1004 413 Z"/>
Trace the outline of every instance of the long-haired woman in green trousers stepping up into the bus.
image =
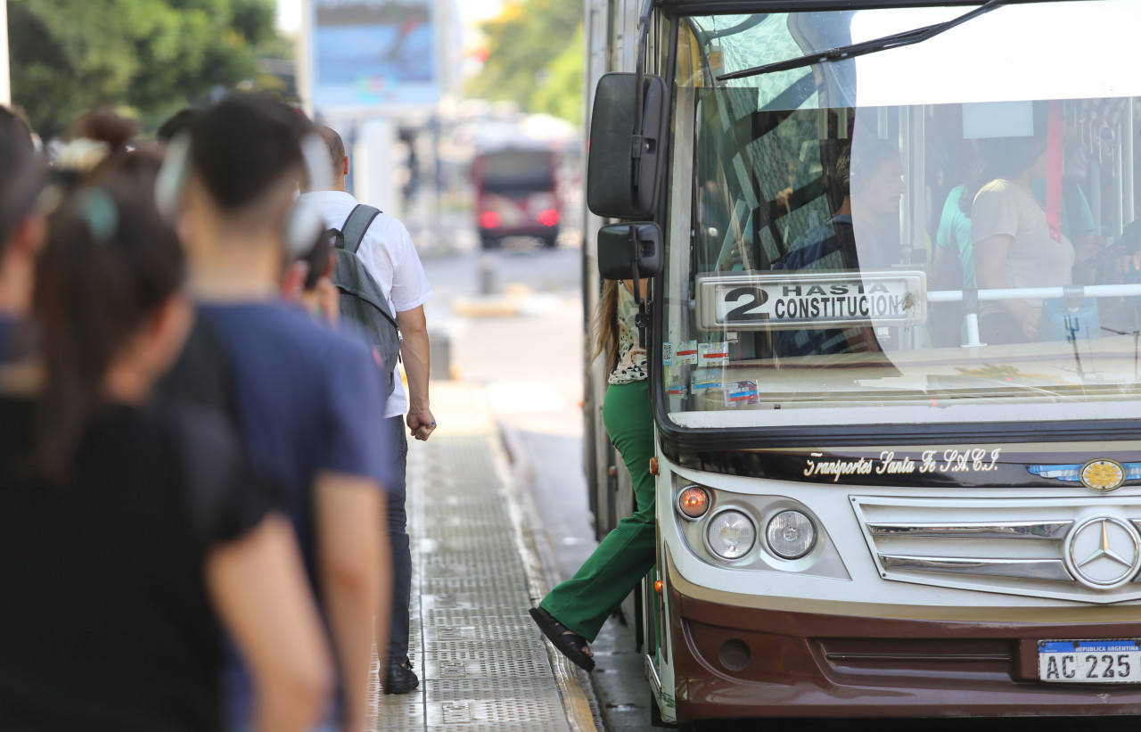
<path id="1" fill-rule="evenodd" d="M 646 281 L 641 283 L 646 295 Z M 556 649 L 588 671 L 589 644 L 606 619 L 654 566 L 654 419 L 649 411 L 646 348 L 638 337 L 634 282 L 607 281 L 594 316 L 594 359 L 606 354 L 602 421 L 633 482 L 638 509 L 618 522 L 572 579 L 555 587 L 531 617 Z"/>

